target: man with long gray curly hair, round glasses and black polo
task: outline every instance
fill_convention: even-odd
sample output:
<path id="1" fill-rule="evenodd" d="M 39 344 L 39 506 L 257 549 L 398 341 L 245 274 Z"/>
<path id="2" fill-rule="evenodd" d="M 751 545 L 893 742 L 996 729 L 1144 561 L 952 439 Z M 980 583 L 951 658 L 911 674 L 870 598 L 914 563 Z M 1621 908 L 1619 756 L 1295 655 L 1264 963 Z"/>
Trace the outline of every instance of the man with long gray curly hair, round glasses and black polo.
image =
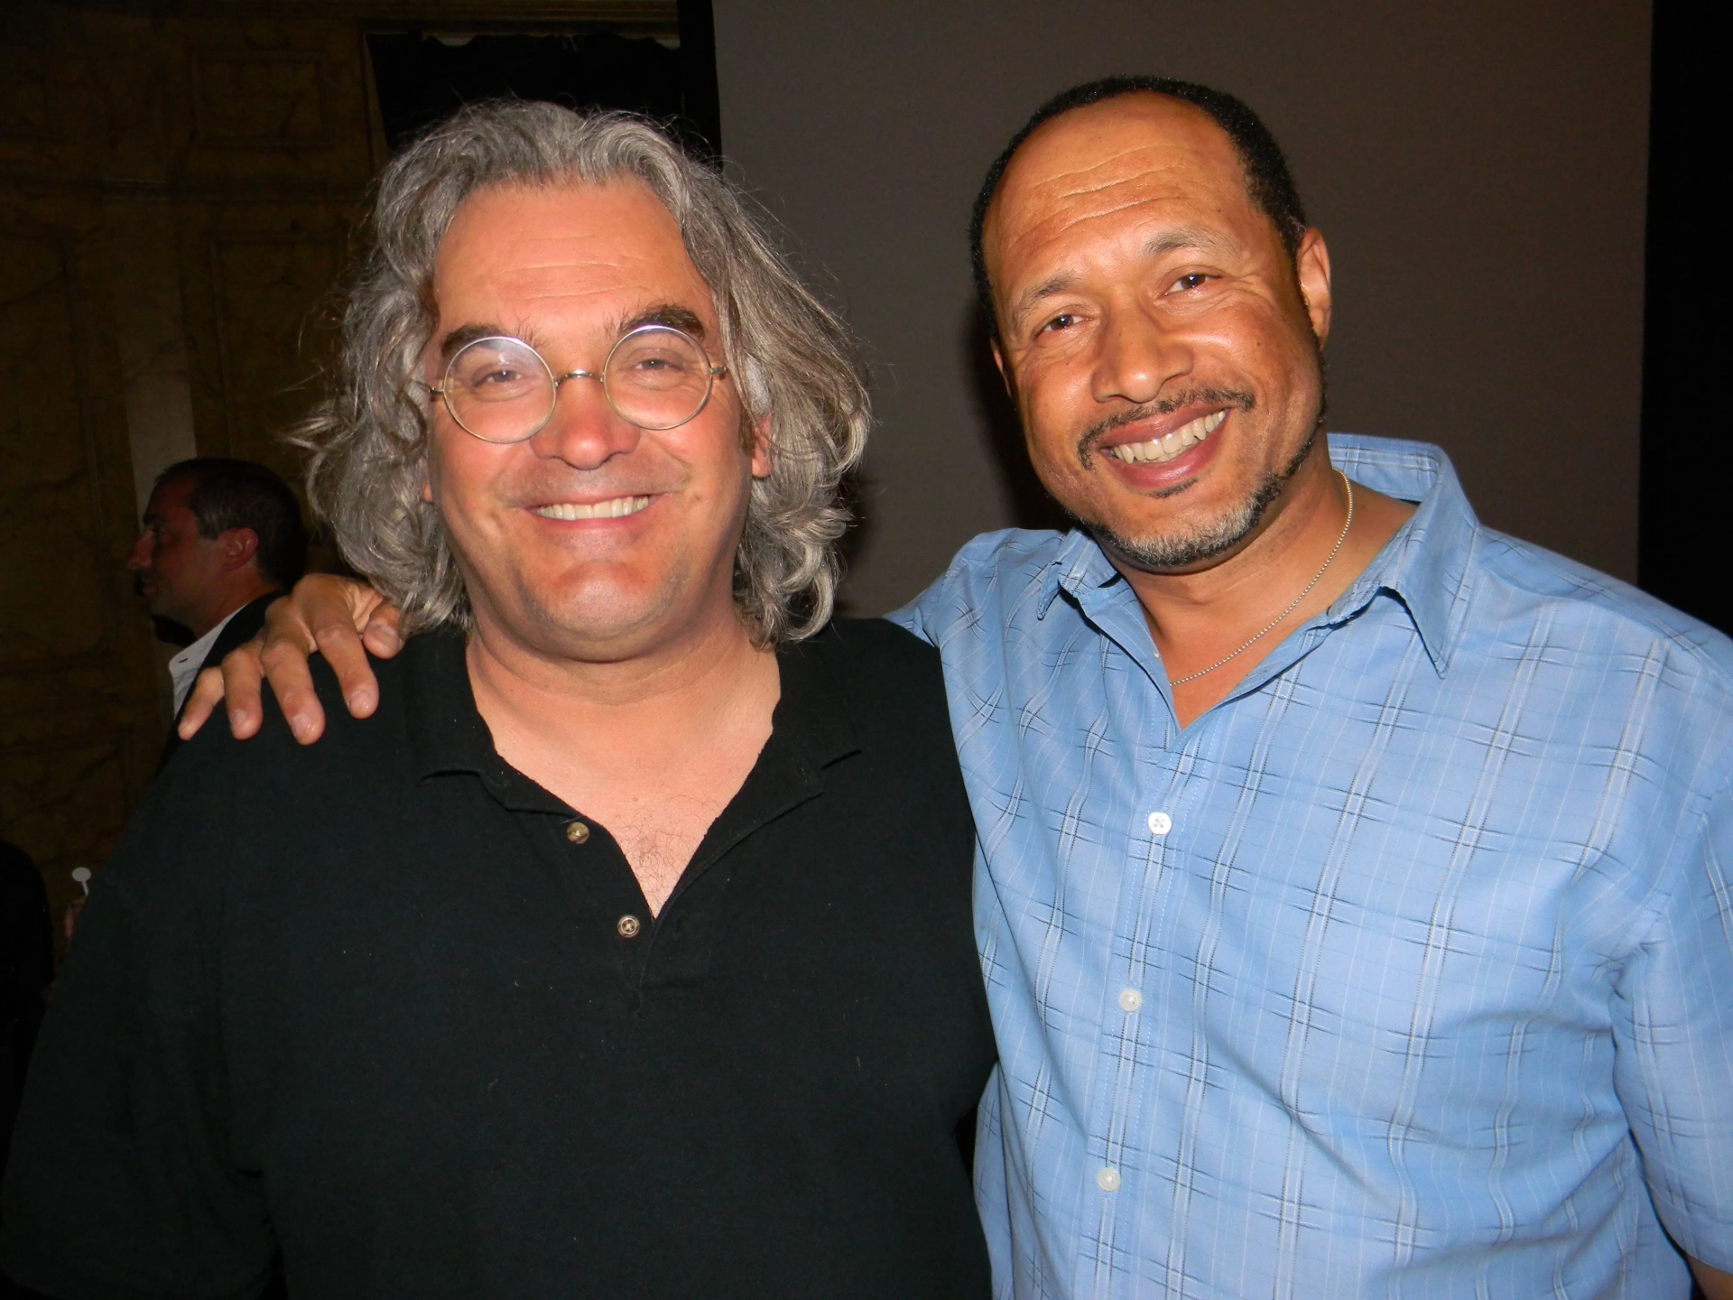
<path id="1" fill-rule="evenodd" d="M 995 1059 L 938 653 L 832 621 L 835 319 L 652 125 L 386 168 L 317 513 L 378 714 L 170 763 L 12 1146 L 57 1297 L 988 1293 Z M 823 627 L 823 631 L 818 631 Z"/>

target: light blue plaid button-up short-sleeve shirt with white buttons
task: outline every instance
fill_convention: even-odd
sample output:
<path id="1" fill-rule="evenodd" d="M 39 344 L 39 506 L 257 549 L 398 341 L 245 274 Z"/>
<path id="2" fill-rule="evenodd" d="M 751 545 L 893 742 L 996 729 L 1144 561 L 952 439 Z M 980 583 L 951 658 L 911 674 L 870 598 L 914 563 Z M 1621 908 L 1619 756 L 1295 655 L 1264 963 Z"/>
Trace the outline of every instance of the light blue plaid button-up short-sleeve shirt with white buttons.
<path id="1" fill-rule="evenodd" d="M 1007 1297 L 1684 1297 L 1733 1269 L 1733 643 L 1414 518 L 1180 728 L 1083 534 L 977 537 L 944 657 Z"/>

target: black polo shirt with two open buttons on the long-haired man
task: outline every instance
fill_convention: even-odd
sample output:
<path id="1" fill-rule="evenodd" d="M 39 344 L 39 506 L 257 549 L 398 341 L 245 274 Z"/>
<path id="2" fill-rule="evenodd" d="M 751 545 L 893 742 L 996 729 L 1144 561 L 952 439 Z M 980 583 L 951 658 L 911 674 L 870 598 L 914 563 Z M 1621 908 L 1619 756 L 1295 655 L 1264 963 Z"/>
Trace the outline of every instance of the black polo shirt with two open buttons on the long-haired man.
<path id="1" fill-rule="evenodd" d="M 938 655 L 841 622 L 662 915 L 463 641 L 206 728 L 104 868 L 12 1149 L 61 1297 L 984 1297 L 993 1040 Z"/>

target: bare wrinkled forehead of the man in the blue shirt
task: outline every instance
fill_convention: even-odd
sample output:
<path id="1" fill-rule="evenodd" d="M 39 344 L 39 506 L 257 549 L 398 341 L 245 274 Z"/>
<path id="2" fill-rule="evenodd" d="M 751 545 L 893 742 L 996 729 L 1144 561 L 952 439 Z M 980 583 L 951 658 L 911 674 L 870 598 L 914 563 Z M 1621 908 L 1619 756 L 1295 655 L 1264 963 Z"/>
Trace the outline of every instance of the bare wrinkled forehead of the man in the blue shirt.
<path id="1" fill-rule="evenodd" d="M 1043 121 L 1017 149 L 983 224 L 990 272 L 1007 243 L 1154 196 L 1249 205 L 1234 142 L 1203 109 L 1133 92 Z"/>

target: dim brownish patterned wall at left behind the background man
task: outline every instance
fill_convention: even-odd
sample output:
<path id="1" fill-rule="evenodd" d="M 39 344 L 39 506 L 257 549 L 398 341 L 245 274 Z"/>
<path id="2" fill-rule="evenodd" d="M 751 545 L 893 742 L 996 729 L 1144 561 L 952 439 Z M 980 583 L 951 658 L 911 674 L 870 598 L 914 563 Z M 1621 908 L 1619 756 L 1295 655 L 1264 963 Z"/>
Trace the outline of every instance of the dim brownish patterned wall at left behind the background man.
<path id="1" fill-rule="evenodd" d="M 0 31 L 0 834 L 57 912 L 166 725 L 123 567 L 139 508 L 191 454 L 293 478 L 276 432 L 312 400 L 329 333 L 305 326 L 380 159 L 354 17 L 220 9 Z"/>

